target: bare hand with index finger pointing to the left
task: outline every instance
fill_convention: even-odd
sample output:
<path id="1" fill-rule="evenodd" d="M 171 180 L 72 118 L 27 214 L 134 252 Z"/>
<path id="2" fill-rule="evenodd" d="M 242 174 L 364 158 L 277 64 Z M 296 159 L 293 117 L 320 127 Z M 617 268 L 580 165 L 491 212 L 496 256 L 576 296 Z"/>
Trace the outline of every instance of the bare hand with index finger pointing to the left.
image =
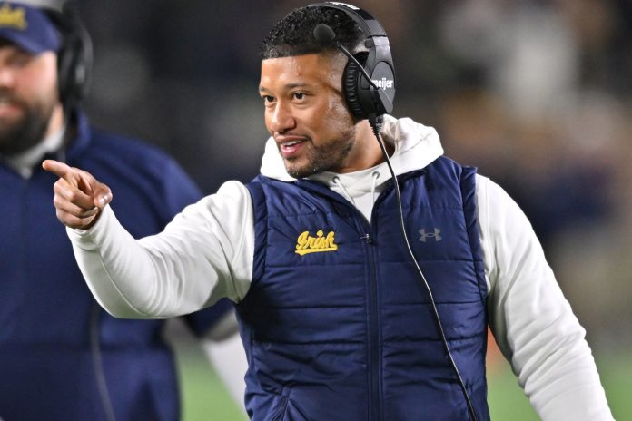
<path id="1" fill-rule="evenodd" d="M 70 228 L 92 227 L 104 206 L 112 201 L 110 188 L 89 172 L 64 162 L 46 160 L 42 167 L 59 177 L 53 188 L 57 219 Z"/>

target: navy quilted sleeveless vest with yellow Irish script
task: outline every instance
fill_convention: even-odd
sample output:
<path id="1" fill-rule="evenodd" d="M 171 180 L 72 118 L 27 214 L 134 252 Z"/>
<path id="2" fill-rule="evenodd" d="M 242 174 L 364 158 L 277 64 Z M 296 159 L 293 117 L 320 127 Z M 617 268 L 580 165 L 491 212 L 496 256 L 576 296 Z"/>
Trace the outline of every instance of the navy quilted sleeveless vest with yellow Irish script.
<path id="1" fill-rule="evenodd" d="M 485 420 L 487 288 L 475 172 L 439 158 L 398 180 L 410 246 Z M 252 286 L 237 308 L 252 419 L 469 419 L 392 185 L 370 224 L 318 182 L 259 176 L 248 189 L 256 251 Z"/>

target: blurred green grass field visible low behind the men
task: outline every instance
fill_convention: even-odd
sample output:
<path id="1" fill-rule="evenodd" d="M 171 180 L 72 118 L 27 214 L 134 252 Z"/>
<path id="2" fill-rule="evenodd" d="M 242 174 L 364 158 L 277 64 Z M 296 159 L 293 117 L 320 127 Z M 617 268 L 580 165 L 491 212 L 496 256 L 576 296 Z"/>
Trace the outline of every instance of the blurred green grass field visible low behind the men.
<path id="1" fill-rule="evenodd" d="M 244 421 L 246 416 L 232 403 L 219 378 L 190 344 L 176 347 L 183 378 L 183 421 Z M 597 356 L 597 367 L 615 419 L 632 419 L 632 357 Z M 518 387 L 516 377 L 503 361 L 489 373 L 489 409 L 499 421 L 538 421 Z"/>

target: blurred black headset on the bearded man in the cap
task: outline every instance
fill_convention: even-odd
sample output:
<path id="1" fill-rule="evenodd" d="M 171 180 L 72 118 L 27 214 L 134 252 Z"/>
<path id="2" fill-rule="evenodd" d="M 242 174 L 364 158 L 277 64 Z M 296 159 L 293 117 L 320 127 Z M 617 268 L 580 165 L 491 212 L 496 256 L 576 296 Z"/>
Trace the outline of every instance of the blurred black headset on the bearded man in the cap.
<path id="1" fill-rule="evenodd" d="M 62 36 L 62 46 L 57 53 L 57 84 L 64 110 L 70 110 L 88 91 L 93 64 L 92 40 L 75 5 L 66 3 L 61 10 L 42 10 Z"/>

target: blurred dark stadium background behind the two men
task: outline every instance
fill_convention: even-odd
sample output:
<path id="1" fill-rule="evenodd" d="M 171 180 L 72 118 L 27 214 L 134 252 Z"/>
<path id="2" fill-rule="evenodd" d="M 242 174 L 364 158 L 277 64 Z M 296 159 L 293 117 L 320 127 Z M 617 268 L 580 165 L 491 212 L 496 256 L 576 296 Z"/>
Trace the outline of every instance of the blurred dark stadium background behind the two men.
<path id="1" fill-rule="evenodd" d="M 257 174 L 267 137 L 258 47 L 306 3 L 79 4 L 94 41 L 86 109 L 97 126 L 170 152 L 208 193 Z M 632 2 L 354 4 L 389 34 L 393 114 L 434 126 L 449 156 L 518 201 L 588 330 L 615 416 L 632 419 Z M 198 415 L 217 394 L 204 388 L 207 376 L 187 374 L 201 363 L 186 343 L 188 419 L 239 419 Z M 489 372 L 495 419 L 537 419 L 493 348 Z M 514 389 L 517 401 L 505 395 Z"/>

